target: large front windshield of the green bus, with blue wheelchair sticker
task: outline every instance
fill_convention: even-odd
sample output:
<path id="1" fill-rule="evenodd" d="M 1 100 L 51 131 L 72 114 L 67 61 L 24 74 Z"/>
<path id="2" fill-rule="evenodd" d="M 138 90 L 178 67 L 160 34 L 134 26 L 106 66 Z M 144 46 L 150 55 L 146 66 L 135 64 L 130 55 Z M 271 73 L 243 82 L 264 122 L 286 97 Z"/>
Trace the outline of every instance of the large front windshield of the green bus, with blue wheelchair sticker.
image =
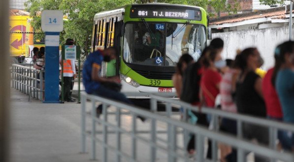
<path id="1" fill-rule="evenodd" d="M 175 66 L 183 54 L 198 60 L 206 44 L 205 28 L 195 24 L 126 24 L 124 60 L 130 64 Z"/>

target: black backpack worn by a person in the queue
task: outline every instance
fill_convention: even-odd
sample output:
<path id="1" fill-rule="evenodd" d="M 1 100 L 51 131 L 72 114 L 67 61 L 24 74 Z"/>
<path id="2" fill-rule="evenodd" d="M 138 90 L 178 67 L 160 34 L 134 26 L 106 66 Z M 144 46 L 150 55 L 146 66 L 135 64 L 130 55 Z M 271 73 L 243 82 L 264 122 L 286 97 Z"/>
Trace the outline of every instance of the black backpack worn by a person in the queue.
<path id="1" fill-rule="evenodd" d="M 183 74 L 183 86 L 180 99 L 194 103 L 199 102 L 200 79 L 202 73 L 201 65 L 196 62 L 189 65 Z"/>

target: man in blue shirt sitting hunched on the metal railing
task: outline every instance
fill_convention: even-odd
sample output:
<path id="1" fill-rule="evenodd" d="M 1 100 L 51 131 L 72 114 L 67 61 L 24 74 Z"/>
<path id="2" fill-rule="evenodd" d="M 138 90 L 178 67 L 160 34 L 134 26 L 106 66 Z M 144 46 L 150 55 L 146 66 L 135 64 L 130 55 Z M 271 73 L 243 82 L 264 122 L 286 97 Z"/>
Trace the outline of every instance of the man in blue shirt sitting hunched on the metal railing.
<path id="1" fill-rule="evenodd" d="M 101 77 L 102 61 L 110 62 L 118 57 L 115 47 L 108 47 L 104 51 L 95 51 L 89 54 L 84 63 L 83 83 L 88 94 L 106 97 L 117 101 L 133 104 L 124 94 L 120 93 L 121 84 L 119 76 Z M 98 106 L 97 115 L 102 113 L 102 106 Z M 145 119 L 138 117 L 142 121 Z"/>

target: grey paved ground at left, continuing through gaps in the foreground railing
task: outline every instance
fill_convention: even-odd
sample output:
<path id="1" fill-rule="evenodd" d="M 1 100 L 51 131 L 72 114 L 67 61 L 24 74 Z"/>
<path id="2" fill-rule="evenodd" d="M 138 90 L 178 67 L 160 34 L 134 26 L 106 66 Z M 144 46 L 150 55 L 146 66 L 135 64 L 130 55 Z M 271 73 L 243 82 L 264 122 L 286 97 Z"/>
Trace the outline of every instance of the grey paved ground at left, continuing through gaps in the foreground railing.
<path id="1" fill-rule="evenodd" d="M 88 103 L 90 106 L 91 103 Z M 90 154 L 80 154 L 80 104 L 76 102 L 42 103 L 40 100 L 28 101 L 28 96 L 11 89 L 11 162 L 90 162 Z M 110 108 L 112 110 L 112 108 Z M 109 121 L 115 122 L 114 117 Z M 91 129 L 90 120 L 87 130 Z M 131 117 L 122 116 L 122 128 L 131 126 Z M 166 125 L 158 124 L 158 130 L 166 130 Z M 150 121 L 138 120 L 137 128 L 150 129 Z M 101 130 L 101 125 L 97 125 Z M 150 137 L 150 134 L 142 135 Z M 101 139 L 101 135 L 97 135 Z M 157 135 L 166 139 L 166 134 Z M 109 144 L 115 146 L 115 135 L 109 135 Z M 182 136 L 178 136 L 181 143 Z M 87 149 L 90 150 L 90 140 Z M 131 154 L 131 138 L 123 136 L 122 149 Z M 137 152 L 140 162 L 148 162 L 150 148 L 138 142 Z M 97 144 L 97 158 L 101 162 L 102 147 Z M 115 156 L 108 152 L 108 162 L 115 162 Z M 252 157 L 249 158 L 252 160 Z M 250 160 L 250 161 L 251 161 Z M 166 162 L 166 153 L 157 151 L 157 162 Z M 122 159 L 122 162 L 129 162 Z M 252 161 L 251 161 L 252 162 Z"/>

